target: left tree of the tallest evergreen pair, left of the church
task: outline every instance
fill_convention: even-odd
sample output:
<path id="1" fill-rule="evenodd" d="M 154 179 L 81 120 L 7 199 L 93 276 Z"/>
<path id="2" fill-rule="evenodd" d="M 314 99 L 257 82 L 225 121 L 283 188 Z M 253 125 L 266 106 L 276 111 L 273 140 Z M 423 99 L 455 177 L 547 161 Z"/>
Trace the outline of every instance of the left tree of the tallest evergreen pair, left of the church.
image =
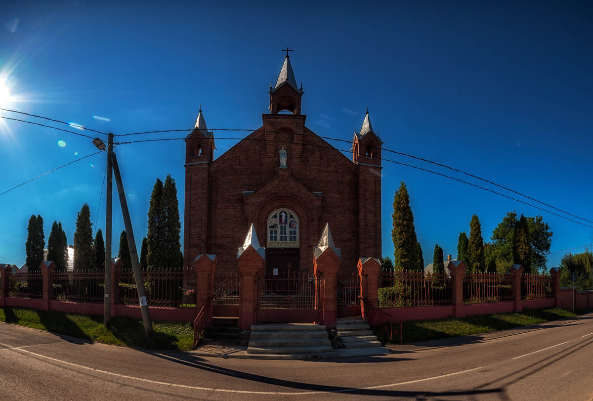
<path id="1" fill-rule="evenodd" d="M 148 259 L 149 270 L 165 266 L 162 259 L 165 254 L 164 235 L 162 235 L 162 218 L 164 217 L 162 189 L 162 181 L 157 178 L 157 182 L 154 183 L 152 188 L 148 208 L 148 234 L 146 234 L 148 253 L 146 259 Z"/>

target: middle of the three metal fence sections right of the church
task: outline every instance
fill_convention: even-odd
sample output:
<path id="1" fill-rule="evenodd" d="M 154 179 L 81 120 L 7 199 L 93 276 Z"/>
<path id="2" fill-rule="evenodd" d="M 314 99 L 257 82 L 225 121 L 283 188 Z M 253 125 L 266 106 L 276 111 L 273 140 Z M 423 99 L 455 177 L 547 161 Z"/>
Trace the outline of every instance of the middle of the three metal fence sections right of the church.
<path id="1" fill-rule="evenodd" d="M 463 303 L 512 301 L 512 276 L 498 273 L 470 273 L 463 278 Z"/>

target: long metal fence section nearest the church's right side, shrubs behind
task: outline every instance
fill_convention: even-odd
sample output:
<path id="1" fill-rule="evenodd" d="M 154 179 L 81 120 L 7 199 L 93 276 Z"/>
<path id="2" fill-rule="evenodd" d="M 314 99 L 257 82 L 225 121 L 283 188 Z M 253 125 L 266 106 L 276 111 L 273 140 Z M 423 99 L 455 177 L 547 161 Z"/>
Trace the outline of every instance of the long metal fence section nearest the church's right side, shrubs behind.
<path id="1" fill-rule="evenodd" d="M 382 273 L 379 277 L 379 307 L 401 308 L 450 305 L 452 280 L 445 274 L 423 272 Z"/>

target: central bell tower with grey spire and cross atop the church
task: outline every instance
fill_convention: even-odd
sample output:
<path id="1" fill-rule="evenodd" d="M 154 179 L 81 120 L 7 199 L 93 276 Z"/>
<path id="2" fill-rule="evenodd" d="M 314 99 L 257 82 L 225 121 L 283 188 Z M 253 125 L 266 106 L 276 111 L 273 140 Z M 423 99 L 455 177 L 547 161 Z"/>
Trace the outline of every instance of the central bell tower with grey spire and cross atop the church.
<path id="1" fill-rule="evenodd" d="M 291 59 L 288 52 L 292 52 L 288 47 L 285 50 L 286 57 L 276 85 L 270 86 L 270 114 L 278 114 L 282 110 L 288 110 L 292 114 L 301 114 L 301 97 L 304 93 L 297 85 L 295 74 L 292 72 Z"/>

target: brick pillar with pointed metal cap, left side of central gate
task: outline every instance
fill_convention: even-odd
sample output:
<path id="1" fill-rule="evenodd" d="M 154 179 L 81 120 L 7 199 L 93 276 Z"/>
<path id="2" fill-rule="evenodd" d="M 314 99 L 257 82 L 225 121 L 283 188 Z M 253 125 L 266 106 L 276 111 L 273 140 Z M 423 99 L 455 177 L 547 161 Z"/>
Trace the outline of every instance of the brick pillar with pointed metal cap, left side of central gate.
<path id="1" fill-rule="evenodd" d="M 243 246 L 237 250 L 239 268 L 239 327 L 250 330 L 257 322 L 257 300 L 259 288 L 257 279 L 263 275 L 266 262 L 266 250 L 260 247 L 256 229 L 251 223 Z"/>

